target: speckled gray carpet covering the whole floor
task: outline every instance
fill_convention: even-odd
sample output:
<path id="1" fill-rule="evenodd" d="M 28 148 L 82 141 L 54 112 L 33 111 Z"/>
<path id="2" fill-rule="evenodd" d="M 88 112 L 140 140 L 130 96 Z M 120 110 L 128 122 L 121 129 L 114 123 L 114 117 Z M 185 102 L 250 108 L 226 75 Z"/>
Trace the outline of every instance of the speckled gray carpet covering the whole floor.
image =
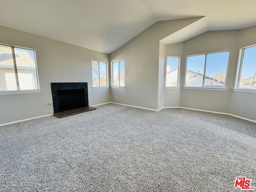
<path id="1" fill-rule="evenodd" d="M 256 124 L 116 104 L 0 127 L 0 191 L 234 192 L 256 186 Z"/>

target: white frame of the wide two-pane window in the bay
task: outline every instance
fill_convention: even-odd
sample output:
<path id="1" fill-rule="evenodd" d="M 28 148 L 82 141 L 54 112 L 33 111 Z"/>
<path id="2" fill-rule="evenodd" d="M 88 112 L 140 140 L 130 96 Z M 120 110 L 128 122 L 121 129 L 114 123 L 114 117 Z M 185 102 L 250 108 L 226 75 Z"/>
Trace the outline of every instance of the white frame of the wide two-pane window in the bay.
<path id="1" fill-rule="evenodd" d="M 206 86 L 204 86 L 204 82 L 205 82 L 205 72 L 206 72 L 207 55 L 208 55 L 208 54 L 214 54 L 214 53 L 221 53 L 221 52 L 228 52 L 228 61 L 227 61 L 226 78 L 225 78 L 224 87 L 220 87 L 220 86 L 207 86 L 207 87 L 206 87 Z M 203 74 L 203 83 L 202 83 L 202 87 L 199 87 L 199 86 L 186 86 L 187 68 L 188 68 L 188 57 L 191 57 L 191 56 L 200 56 L 200 55 L 205 55 L 205 58 L 204 58 L 204 74 Z M 186 59 L 186 71 L 185 71 L 186 74 L 185 74 L 184 88 L 185 88 L 185 89 L 200 89 L 200 90 L 226 90 L 226 82 L 227 82 L 227 76 L 228 76 L 229 57 L 230 57 L 230 50 L 209 52 L 209 53 L 203 53 L 203 54 L 195 54 L 195 55 L 188 55 L 188 56 L 187 56 L 187 59 Z"/>

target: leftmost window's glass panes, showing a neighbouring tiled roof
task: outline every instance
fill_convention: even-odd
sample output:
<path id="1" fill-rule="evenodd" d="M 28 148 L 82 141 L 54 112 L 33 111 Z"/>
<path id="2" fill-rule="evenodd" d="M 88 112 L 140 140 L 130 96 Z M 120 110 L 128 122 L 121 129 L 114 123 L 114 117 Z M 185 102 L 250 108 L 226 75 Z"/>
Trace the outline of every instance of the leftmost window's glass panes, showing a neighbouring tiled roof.
<path id="1" fill-rule="evenodd" d="M 0 44 L 0 91 L 38 89 L 35 50 Z"/>

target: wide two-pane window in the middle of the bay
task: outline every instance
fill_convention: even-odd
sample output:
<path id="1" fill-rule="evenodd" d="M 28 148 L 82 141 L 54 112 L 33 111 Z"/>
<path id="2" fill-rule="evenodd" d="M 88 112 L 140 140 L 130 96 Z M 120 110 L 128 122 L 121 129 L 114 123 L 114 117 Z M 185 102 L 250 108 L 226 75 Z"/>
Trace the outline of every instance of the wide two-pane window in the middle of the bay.
<path id="1" fill-rule="evenodd" d="M 185 87 L 225 87 L 229 51 L 187 57 Z"/>

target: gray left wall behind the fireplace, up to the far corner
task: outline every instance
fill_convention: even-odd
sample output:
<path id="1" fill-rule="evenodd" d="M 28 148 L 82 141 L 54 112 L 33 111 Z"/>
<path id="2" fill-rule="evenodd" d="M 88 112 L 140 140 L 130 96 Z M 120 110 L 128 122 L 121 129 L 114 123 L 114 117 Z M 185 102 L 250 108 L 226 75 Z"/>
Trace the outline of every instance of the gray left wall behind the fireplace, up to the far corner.
<path id="1" fill-rule="evenodd" d="M 110 102 L 110 88 L 92 89 L 91 60 L 109 55 L 0 26 L 0 42 L 36 50 L 40 93 L 0 95 L 0 124 L 53 113 L 51 82 L 88 82 L 89 105 Z"/>

